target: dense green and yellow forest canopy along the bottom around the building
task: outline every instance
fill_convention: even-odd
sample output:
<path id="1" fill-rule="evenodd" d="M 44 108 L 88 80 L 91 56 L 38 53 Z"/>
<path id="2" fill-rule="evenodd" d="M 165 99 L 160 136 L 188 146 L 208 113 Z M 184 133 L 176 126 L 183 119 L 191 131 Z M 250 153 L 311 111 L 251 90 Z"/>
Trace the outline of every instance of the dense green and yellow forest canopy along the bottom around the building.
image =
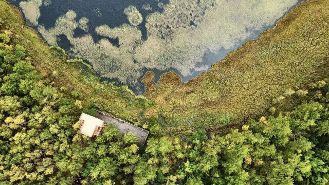
<path id="1" fill-rule="evenodd" d="M 188 145 L 150 138 L 139 153 L 134 135 L 109 126 L 90 139 L 77 132 L 79 95 L 61 93 L 1 33 L 0 179 L 3 184 L 326 184 L 329 174 L 329 83 L 312 84 L 313 100 L 208 139 L 198 128 Z M 275 112 L 273 112 L 275 114 Z"/>

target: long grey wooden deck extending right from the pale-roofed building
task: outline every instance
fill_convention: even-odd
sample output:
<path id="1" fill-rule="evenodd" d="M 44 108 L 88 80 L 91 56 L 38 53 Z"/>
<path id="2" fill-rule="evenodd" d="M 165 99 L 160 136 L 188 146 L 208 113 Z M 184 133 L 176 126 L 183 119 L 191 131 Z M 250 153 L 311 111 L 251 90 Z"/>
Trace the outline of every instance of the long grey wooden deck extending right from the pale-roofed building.
<path id="1" fill-rule="evenodd" d="M 104 124 L 106 124 L 106 125 L 113 124 L 114 127 L 116 127 L 122 134 L 127 134 L 128 132 L 131 132 L 132 134 L 137 136 L 140 145 L 141 146 L 144 145 L 146 139 L 148 138 L 149 131 L 144 130 L 143 128 L 135 126 L 126 121 L 123 121 L 119 118 L 115 118 L 114 116 L 102 113 L 99 110 L 96 110 L 96 112 L 97 113 L 96 113 L 95 117 L 103 120 Z"/>

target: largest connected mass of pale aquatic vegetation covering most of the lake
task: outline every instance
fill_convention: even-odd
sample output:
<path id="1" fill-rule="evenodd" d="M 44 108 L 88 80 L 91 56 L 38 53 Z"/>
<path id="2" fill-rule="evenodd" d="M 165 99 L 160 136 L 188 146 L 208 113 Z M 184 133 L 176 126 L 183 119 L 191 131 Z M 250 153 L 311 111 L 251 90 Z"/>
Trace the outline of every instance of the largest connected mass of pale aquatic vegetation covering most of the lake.
<path id="1" fill-rule="evenodd" d="M 75 20 L 75 13 L 58 18 L 53 28 L 39 26 L 39 31 L 50 44 L 65 34 L 73 45 L 74 55 L 92 63 L 102 77 L 115 78 L 120 83 L 136 86 L 143 70 L 177 69 L 183 77 L 195 71 L 205 71 L 200 64 L 206 51 L 233 49 L 242 41 L 280 18 L 297 0 L 261 0 L 254 5 L 248 1 L 170 1 L 163 11 L 149 14 L 146 20 L 147 39 L 137 25 L 142 22 L 136 7 L 124 10 L 131 23 L 112 28 L 101 25 L 96 32 L 107 39 L 95 43 L 91 34 L 74 38 L 77 27 L 85 28 L 86 20 Z M 234 8 L 232 8 L 234 7 Z M 220 21 L 218 21 L 220 20 Z"/>

